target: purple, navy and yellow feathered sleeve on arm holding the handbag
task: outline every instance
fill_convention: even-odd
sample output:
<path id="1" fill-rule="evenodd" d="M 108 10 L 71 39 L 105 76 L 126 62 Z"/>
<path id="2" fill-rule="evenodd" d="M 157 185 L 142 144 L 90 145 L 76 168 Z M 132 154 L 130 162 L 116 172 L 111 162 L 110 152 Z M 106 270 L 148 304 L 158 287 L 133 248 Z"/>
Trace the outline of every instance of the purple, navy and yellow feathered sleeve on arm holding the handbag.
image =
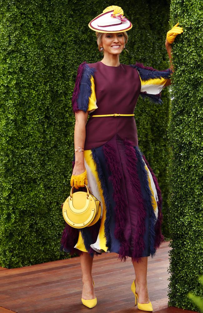
<path id="1" fill-rule="evenodd" d="M 72 109 L 74 113 L 79 110 L 93 112 L 97 109 L 97 100 L 94 84 L 94 68 L 83 62 L 77 69 L 77 77 L 72 95 Z"/>

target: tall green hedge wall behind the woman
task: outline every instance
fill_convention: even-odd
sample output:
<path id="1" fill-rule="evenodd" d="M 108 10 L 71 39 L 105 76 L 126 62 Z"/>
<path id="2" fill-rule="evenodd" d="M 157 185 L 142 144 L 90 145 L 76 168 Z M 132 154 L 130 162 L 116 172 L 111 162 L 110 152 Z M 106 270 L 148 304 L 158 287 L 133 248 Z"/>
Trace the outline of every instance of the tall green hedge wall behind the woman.
<path id="1" fill-rule="evenodd" d="M 0 265 L 64 258 L 60 204 L 70 191 L 74 151 L 71 97 L 77 67 L 102 58 L 88 22 L 104 1 L 1 1 Z M 169 1 L 118 1 L 133 28 L 121 62 L 169 67 L 165 37 Z M 143 10 L 144 8 L 144 10 Z M 167 230 L 169 93 L 163 105 L 139 100 L 139 146 L 158 177 Z M 67 257 L 67 256 L 66 256 Z"/>

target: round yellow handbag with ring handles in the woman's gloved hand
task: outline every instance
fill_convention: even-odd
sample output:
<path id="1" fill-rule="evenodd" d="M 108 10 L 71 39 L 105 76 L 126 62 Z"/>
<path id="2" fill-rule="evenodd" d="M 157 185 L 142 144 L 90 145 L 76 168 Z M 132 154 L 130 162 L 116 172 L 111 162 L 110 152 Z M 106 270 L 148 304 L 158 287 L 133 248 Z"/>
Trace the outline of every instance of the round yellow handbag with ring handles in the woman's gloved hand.
<path id="1" fill-rule="evenodd" d="M 87 192 L 72 192 L 70 196 L 62 203 L 63 218 L 66 223 L 74 228 L 84 228 L 92 226 L 101 217 L 101 202 L 91 194 L 89 187 L 85 185 Z"/>

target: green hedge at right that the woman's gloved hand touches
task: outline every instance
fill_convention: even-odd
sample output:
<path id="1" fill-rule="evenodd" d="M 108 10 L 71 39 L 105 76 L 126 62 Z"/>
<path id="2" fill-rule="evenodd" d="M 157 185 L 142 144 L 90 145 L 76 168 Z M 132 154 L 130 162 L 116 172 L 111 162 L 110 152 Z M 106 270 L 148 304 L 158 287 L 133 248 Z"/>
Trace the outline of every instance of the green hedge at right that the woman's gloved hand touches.
<path id="1" fill-rule="evenodd" d="M 170 146 L 170 284 L 169 305 L 197 310 L 189 291 L 202 296 L 202 98 L 203 3 L 171 1 L 171 25 L 184 33 L 173 44 Z"/>

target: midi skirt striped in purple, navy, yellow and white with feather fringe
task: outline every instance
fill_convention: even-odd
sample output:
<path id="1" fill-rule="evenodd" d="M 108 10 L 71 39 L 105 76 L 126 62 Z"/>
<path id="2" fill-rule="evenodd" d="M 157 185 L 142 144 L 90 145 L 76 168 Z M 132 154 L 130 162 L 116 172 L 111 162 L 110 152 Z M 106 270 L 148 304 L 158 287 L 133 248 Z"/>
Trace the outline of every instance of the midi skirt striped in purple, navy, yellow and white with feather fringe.
<path id="1" fill-rule="evenodd" d="M 84 160 L 88 187 L 101 201 L 102 216 L 95 225 L 82 229 L 66 224 L 61 250 L 92 256 L 102 250 L 115 252 L 124 262 L 127 257 L 137 262 L 153 257 L 164 242 L 162 197 L 139 147 L 116 134 L 104 145 L 85 150 Z M 74 167 L 74 157 L 72 163 Z"/>

